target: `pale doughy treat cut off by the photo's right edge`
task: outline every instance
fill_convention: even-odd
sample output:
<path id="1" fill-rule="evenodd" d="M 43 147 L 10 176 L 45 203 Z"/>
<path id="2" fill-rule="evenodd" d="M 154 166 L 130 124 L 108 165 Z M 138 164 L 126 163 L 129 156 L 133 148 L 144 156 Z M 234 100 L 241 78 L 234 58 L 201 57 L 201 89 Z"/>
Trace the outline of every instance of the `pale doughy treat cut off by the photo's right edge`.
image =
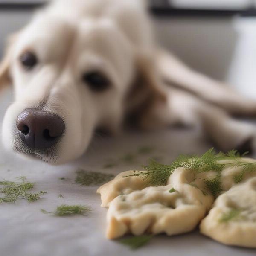
<path id="1" fill-rule="evenodd" d="M 256 177 L 220 195 L 200 230 L 223 244 L 256 247 Z"/>

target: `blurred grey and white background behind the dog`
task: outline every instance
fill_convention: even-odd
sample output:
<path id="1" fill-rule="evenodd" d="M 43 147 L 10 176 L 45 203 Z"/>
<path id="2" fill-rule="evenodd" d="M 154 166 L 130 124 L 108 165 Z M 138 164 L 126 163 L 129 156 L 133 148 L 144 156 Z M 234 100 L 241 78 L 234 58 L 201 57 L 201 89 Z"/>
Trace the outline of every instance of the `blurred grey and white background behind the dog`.
<path id="1" fill-rule="evenodd" d="M 0 57 L 8 34 L 45 0 L 0 0 Z M 157 40 L 186 64 L 256 98 L 256 0 L 148 0 Z"/>

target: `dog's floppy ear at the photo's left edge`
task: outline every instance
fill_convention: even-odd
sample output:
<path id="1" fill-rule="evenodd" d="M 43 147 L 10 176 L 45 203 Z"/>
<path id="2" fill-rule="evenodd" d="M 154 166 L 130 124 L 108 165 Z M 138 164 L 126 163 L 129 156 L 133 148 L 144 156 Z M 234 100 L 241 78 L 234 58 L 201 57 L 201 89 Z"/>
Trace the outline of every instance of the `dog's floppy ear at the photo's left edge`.
<path id="1" fill-rule="evenodd" d="M 14 45 L 17 38 L 17 33 L 9 36 L 7 42 L 5 55 L 0 61 L 0 92 L 4 87 L 11 84 L 11 78 L 9 76 L 9 67 L 11 62 L 12 46 Z"/>

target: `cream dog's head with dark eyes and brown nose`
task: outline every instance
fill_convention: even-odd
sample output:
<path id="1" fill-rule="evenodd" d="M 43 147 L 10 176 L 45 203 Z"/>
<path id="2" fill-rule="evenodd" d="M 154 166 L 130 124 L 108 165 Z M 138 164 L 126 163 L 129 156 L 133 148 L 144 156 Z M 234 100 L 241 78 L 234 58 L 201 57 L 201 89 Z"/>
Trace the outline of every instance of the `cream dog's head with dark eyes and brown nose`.
<path id="1" fill-rule="evenodd" d="M 3 120 L 7 148 L 60 164 L 83 154 L 97 127 L 119 128 L 137 56 L 111 20 L 41 13 L 8 48 L 0 65 L 0 84 L 15 90 Z"/>

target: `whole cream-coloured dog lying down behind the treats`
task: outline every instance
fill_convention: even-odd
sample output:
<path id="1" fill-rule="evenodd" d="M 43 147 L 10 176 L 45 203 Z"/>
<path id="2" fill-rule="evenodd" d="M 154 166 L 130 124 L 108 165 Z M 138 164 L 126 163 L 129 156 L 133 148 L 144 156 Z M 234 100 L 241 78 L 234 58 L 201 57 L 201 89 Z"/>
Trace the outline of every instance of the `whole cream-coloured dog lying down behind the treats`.
<path id="1" fill-rule="evenodd" d="M 12 35 L 0 87 L 15 100 L 6 148 L 50 164 L 84 154 L 93 133 L 126 119 L 143 129 L 200 128 L 221 150 L 253 147 L 256 101 L 197 73 L 154 41 L 146 2 L 55 0 Z"/>

